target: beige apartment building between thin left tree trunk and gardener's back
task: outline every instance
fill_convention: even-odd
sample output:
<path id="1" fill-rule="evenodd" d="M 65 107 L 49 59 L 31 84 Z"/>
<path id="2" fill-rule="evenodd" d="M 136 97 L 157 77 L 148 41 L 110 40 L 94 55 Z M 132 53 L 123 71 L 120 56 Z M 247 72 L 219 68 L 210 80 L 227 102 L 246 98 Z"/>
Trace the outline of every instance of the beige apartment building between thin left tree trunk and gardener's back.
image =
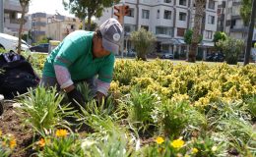
<path id="1" fill-rule="evenodd" d="M 62 40 L 68 33 L 79 29 L 79 26 L 78 18 L 34 13 L 32 14 L 32 42 L 37 42 L 43 37 Z"/>

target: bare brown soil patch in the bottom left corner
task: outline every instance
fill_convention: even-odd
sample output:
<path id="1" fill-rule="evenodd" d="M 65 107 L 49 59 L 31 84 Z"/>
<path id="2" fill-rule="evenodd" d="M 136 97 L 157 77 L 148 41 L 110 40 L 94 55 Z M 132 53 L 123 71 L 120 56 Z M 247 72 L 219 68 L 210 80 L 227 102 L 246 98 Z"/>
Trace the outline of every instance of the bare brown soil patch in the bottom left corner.
<path id="1" fill-rule="evenodd" d="M 12 134 L 15 136 L 17 146 L 11 157 L 28 157 L 32 154 L 32 132 L 30 128 L 24 128 L 17 114 L 17 109 L 12 104 L 4 103 L 4 113 L 0 117 L 0 130 L 3 134 Z"/>

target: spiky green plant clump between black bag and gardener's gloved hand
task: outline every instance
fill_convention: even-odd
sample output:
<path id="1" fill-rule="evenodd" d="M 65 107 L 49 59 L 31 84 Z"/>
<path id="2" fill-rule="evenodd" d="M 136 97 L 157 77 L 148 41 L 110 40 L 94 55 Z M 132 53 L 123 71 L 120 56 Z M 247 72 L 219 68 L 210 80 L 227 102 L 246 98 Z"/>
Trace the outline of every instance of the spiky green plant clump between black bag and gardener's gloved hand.
<path id="1" fill-rule="evenodd" d="M 18 100 L 22 104 L 21 111 L 26 113 L 22 115 L 23 122 L 39 133 L 65 125 L 62 118 L 73 112 L 68 112 L 70 108 L 67 106 L 60 106 L 62 99 L 63 95 L 57 94 L 55 88 L 38 86 L 34 90 L 30 89 L 28 94 L 22 95 Z"/>

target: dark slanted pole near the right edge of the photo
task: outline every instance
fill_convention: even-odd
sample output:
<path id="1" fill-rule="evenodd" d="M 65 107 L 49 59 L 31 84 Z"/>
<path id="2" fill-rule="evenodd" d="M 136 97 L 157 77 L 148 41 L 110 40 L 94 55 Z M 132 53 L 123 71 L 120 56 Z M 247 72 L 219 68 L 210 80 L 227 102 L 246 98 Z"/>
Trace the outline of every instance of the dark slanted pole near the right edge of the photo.
<path id="1" fill-rule="evenodd" d="M 250 21 L 249 30 L 248 30 L 246 51 L 244 54 L 244 62 L 243 62 L 244 66 L 249 64 L 251 47 L 252 47 L 253 28 L 255 25 L 255 18 L 256 18 L 256 0 L 253 0 L 252 9 L 251 9 L 251 21 Z"/>

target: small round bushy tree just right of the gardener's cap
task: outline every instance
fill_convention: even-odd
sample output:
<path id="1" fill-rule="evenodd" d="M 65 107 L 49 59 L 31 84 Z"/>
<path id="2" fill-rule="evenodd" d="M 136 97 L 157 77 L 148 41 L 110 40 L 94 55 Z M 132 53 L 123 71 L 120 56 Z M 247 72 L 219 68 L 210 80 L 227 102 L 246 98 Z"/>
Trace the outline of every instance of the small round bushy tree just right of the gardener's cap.
<path id="1" fill-rule="evenodd" d="M 154 49 L 154 43 L 157 40 L 152 31 L 140 28 L 131 33 L 131 41 L 134 43 L 138 59 L 146 61 L 146 54 Z"/>

